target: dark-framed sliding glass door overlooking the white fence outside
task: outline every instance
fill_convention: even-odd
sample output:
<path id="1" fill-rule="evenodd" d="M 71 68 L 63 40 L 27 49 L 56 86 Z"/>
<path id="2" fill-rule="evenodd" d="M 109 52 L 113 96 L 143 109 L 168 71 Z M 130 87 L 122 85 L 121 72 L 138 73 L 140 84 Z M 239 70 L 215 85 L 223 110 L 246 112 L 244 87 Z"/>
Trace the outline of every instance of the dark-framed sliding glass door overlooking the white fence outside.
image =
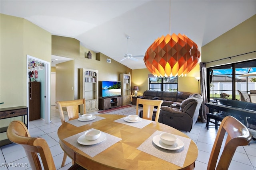
<path id="1" fill-rule="evenodd" d="M 239 92 L 248 95 L 256 90 L 256 60 L 208 68 L 208 96 L 242 100 Z"/>

